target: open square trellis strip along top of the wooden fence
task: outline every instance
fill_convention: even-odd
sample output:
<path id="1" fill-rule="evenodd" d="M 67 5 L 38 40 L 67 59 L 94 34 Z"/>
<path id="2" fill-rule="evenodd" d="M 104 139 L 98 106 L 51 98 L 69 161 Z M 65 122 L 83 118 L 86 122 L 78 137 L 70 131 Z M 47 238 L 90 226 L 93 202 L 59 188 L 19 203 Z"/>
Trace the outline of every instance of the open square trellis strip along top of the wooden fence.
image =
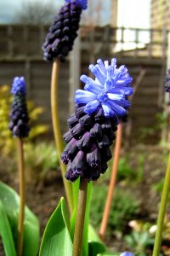
<path id="1" fill-rule="evenodd" d="M 0 26 L 0 58 L 42 57 L 42 43 L 48 26 Z M 167 55 L 168 32 L 165 29 L 81 26 L 82 49 L 95 44 L 102 50 L 131 57 L 164 58 Z"/>

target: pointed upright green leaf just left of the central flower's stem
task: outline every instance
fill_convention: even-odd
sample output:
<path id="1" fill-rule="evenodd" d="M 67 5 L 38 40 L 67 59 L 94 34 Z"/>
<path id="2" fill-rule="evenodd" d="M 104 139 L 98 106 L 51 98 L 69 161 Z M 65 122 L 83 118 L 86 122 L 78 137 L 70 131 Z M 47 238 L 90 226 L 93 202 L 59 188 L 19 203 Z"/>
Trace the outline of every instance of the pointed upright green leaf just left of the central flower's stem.
<path id="1" fill-rule="evenodd" d="M 46 225 L 39 256 L 71 256 L 71 254 L 69 212 L 65 199 L 62 197 Z"/>

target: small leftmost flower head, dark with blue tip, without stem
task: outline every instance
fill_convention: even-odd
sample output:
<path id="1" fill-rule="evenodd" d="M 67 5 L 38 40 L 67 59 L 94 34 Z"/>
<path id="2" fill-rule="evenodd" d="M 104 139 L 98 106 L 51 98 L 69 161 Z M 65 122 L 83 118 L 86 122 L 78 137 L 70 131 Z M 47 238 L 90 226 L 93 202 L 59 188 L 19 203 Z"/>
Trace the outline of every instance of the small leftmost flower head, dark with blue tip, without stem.
<path id="1" fill-rule="evenodd" d="M 8 129 L 14 137 L 28 137 L 30 127 L 26 105 L 26 82 L 24 77 L 15 77 L 11 93 L 14 95 L 10 109 L 10 122 Z"/>

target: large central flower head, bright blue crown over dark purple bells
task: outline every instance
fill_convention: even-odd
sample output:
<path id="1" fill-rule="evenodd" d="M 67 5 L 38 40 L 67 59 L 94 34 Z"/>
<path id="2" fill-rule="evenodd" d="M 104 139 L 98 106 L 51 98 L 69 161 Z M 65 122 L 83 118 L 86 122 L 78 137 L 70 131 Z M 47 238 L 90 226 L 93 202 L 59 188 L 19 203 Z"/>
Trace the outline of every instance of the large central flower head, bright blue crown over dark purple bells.
<path id="1" fill-rule="evenodd" d="M 97 180 L 111 160 L 111 144 L 115 139 L 119 117 L 130 106 L 127 96 L 133 93 L 132 78 L 127 68 L 116 68 L 116 59 L 89 66 L 95 80 L 81 76 L 84 90 L 77 90 L 75 113 L 67 120 L 69 131 L 61 160 L 67 164 L 65 177 L 71 182 L 78 177 Z"/>

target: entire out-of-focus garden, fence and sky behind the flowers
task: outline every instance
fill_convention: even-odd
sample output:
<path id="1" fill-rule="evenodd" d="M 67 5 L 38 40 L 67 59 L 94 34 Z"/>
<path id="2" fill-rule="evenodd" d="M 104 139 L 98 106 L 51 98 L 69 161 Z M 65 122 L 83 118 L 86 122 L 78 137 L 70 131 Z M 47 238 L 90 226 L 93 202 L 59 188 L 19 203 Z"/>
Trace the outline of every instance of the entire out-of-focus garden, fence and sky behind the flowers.
<path id="1" fill-rule="evenodd" d="M 63 195 L 59 155 L 50 111 L 52 63 L 43 61 L 42 43 L 64 0 L 0 1 L 0 177 L 18 190 L 14 138 L 8 131 L 10 85 L 25 76 L 31 134 L 25 146 L 26 202 L 41 222 L 41 232 Z M 167 166 L 170 100 L 164 78 L 170 68 L 169 0 L 88 0 L 74 49 L 59 68 L 59 117 L 74 110 L 82 73 L 97 59 L 116 57 L 133 77 L 132 106 L 123 122 L 121 158 L 106 242 L 114 250 L 151 255 L 154 228 Z M 114 148 L 113 148 L 114 150 Z M 57 155 L 57 158 L 56 158 Z M 99 228 L 110 182 L 112 160 L 94 186 L 91 221 Z M 32 200 L 32 198 L 34 200 Z M 168 200 L 168 209 L 170 198 Z M 163 235 L 163 255 L 170 255 L 170 218 Z M 0 255 L 1 248 L 0 248 Z"/>

